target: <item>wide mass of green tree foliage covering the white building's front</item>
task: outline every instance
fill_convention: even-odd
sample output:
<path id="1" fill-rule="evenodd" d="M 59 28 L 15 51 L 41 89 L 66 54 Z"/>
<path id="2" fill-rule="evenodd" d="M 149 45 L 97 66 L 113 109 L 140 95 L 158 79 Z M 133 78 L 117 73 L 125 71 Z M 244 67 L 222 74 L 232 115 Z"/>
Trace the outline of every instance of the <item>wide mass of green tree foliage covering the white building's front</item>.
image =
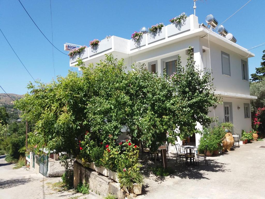
<path id="1" fill-rule="evenodd" d="M 135 140 L 157 147 L 172 137 L 197 132 L 196 122 L 207 126 L 213 118 L 208 107 L 218 102 L 209 71 L 197 71 L 191 55 L 179 73 L 168 77 L 150 73 L 144 66 L 131 66 L 125 73 L 123 59 L 106 55 L 99 63 L 84 66 L 83 74 L 69 71 L 57 82 L 29 85 L 31 92 L 15 103 L 22 117 L 36 124 L 30 142 L 37 148 L 79 152 L 78 140 L 86 131 L 95 144 L 117 139 L 121 128 Z M 174 79 L 173 79 L 174 77 Z"/>

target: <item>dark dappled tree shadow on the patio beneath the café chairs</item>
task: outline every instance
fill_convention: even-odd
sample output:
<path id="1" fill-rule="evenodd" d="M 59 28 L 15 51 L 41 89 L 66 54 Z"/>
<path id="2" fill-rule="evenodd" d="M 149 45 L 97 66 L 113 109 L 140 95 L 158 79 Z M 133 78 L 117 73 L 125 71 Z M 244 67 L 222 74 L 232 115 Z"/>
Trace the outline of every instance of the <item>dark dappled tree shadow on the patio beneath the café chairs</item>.
<path id="1" fill-rule="evenodd" d="M 224 153 L 222 155 L 226 154 Z M 209 159 L 208 157 L 207 157 L 207 162 L 209 166 L 207 166 L 203 160 L 200 160 L 199 166 L 195 165 L 193 167 L 193 165 L 189 166 L 186 166 L 185 164 L 183 165 L 182 160 L 181 162 L 179 162 L 179 159 L 176 163 L 176 154 L 171 153 L 170 159 L 167 162 L 167 166 L 171 167 L 175 172 L 169 176 L 155 176 L 152 172 L 152 168 L 156 167 L 156 164 L 154 162 L 152 163 L 151 161 L 149 161 L 148 157 L 143 157 L 143 160 L 140 162 L 143 165 L 143 167 L 141 167 L 141 171 L 145 176 L 145 178 L 154 180 L 158 184 L 170 178 L 176 178 L 176 177 L 181 179 L 209 180 L 209 178 L 207 178 L 208 175 L 207 172 L 230 172 L 230 170 L 226 168 L 227 164 L 217 162 L 214 159 Z M 161 165 L 161 161 L 158 161 L 157 165 Z"/>

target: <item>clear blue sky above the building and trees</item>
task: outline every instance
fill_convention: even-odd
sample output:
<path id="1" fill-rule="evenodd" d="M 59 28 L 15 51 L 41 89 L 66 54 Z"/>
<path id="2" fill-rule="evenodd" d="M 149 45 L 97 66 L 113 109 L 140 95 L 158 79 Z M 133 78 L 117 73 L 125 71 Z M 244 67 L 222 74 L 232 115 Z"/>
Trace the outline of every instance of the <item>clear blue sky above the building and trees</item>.
<path id="1" fill-rule="evenodd" d="M 0 28 L 35 79 L 49 82 L 54 78 L 52 46 L 30 20 L 18 0 L 0 0 Z M 35 23 L 51 40 L 50 0 L 21 0 Z M 248 0 L 199 0 L 196 15 L 199 23 L 213 14 L 223 22 Z M 107 35 L 130 38 L 143 26 L 169 24 L 169 19 L 185 12 L 193 14 L 192 0 L 174 1 L 68 1 L 51 0 L 54 45 L 63 51 L 65 42 L 89 45 L 93 39 Z M 249 49 L 265 42 L 265 1 L 252 0 L 223 25 L 237 39 L 237 44 Z M 31 77 L 0 33 L 0 85 L 7 93 L 24 94 Z M 260 66 L 265 46 L 251 50 L 249 73 Z M 67 51 L 64 51 L 67 53 Z M 54 49 L 56 75 L 67 75 L 69 57 Z M 3 93 L 0 90 L 0 93 Z"/>

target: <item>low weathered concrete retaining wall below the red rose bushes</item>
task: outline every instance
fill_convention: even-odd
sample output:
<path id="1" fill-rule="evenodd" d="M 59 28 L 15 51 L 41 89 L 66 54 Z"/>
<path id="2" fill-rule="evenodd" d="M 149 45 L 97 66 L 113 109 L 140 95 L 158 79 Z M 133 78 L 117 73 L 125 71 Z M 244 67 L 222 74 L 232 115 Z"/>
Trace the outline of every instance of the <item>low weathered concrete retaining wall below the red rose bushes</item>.
<path id="1" fill-rule="evenodd" d="M 125 191 L 121 191 L 118 183 L 113 182 L 111 179 L 98 174 L 89 168 L 84 168 L 80 163 L 74 162 L 74 188 L 82 181 L 86 181 L 89 184 L 91 191 L 106 196 L 108 193 L 113 193 L 118 196 L 119 199 L 123 199 L 126 196 Z"/>

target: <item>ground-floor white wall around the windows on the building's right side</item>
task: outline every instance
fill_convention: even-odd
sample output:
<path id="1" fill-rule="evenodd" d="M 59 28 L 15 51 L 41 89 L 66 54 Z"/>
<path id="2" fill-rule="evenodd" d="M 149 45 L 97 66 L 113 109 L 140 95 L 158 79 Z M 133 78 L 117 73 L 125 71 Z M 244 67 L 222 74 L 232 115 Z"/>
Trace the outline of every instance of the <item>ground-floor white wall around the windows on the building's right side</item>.
<path id="1" fill-rule="evenodd" d="M 250 131 L 251 130 L 251 116 L 250 118 L 244 118 L 244 103 L 250 103 L 249 99 L 240 99 L 240 98 L 229 98 L 229 97 L 223 97 L 223 102 L 232 102 L 232 114 L 233 114 L 233 124 L 234 124 L 234 132 L 239 133 L 240 137 L 241 131 Z M 240 109 L 237 109 L 237 107 L 240 107 Z M 213 109 L 213 107 L 209 107 L 209 110 L 211 112 L 208 114 L 211 117 L 218 117 L 218 120 L 220 122 L 224 121 L 224 105 L 219 104 L 216 109 Z M 211 124 L 213 127 L 215 124 Z"/>

